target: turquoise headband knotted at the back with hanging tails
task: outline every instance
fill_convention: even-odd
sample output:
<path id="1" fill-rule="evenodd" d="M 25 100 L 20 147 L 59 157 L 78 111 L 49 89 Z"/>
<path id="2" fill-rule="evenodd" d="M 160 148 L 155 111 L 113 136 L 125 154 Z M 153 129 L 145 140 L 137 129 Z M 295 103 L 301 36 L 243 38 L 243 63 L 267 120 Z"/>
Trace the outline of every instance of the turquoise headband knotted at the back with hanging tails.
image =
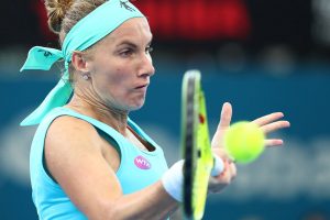
<path id="1" fill-rule="evenodd" d="M 84 51 L 114 31 L 123 22 L 144 15 L 128 0 L 109 0 L 81 19 L 66 35 L 62 51 L 42 46 L 30 50 L 21 68 L 50 70 L 58 59 L 65 61 L 65 73 L 44 101 L 22 122 L 21 125 L 38 124 L 54 108 L 64 106 L 73 92 L 68 66 L 74 51 Z"/>

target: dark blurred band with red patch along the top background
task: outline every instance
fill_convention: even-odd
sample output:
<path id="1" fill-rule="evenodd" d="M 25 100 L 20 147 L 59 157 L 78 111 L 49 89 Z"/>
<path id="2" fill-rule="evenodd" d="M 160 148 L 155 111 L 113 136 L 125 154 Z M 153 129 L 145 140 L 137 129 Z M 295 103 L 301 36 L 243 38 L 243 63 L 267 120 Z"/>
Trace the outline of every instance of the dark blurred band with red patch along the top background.
<path id="1" fill-rule="evenodd" d="M 215 46 L 237 41 L 251 53 L 272 44 L 286 44 L 297 53 L 308 53 L 317 50 L 318 44 L 326 46 L 323 41 L 329 35 L 328 0 L 135 0 L 133 3 L 147 16 L 154 40 L 165 46 L 189 47 L 191 42 Z M 0 30 L 0 46 L 57 45 L 56 35 L 47 26 L 44 1 L 4 1 L 1 8 L 4 10 L 0 19 L 10 22 L 3 22 Z"/>

